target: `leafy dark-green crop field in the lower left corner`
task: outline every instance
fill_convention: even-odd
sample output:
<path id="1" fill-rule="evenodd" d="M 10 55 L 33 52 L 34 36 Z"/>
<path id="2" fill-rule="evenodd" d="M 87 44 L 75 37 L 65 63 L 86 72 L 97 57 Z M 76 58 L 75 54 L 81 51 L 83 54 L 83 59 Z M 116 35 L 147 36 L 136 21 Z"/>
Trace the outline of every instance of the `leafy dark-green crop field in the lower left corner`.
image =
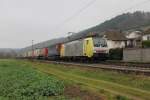
<path id="1" fill-rule="evenodd" d="M 30 63 L 0 60 L 0 100 L 47 100 L 63 91 L 60 80 L 34 70 Z"/>

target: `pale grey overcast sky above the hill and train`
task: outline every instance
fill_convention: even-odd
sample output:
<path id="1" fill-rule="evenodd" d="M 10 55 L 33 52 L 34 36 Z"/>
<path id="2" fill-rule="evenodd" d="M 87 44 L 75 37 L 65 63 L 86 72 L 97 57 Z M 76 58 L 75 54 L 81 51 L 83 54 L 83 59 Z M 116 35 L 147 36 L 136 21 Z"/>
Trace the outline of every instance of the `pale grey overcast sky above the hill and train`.
<path id="1" fill-rule="evenodd" d="M 66 36 L 125 12 L 150 11 L 150 0 L 144 1 L 0 0 L 0 48 L 22 48 L 31 40 Z"/>

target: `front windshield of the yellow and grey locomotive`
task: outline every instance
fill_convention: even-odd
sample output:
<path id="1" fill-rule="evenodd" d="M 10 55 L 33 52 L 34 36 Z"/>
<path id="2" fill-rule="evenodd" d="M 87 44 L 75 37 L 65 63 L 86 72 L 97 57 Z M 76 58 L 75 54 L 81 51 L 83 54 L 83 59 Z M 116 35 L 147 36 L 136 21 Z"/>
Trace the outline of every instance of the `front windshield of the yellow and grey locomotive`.
<path id="1" fill-rule="evenodd" d="M 94 42 L 94 47 L 107 47 L 106 40 L 103 38 L 94 37 L 93 42 Z"/>

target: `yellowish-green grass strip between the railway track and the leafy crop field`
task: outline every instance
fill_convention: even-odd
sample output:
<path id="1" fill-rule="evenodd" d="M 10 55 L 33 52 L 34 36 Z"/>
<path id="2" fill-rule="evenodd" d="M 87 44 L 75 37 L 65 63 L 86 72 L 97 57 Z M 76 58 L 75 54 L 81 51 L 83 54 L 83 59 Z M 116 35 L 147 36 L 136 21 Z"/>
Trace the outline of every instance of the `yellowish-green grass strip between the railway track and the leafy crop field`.
<path id="1" fill-rule="evenodd" d="M 66 82 L 96 91 L 109 100 L 150 99 L 150 78 L 146 76 L 35 62 L 32 65 L 37 70 L 55 75 Z"/>

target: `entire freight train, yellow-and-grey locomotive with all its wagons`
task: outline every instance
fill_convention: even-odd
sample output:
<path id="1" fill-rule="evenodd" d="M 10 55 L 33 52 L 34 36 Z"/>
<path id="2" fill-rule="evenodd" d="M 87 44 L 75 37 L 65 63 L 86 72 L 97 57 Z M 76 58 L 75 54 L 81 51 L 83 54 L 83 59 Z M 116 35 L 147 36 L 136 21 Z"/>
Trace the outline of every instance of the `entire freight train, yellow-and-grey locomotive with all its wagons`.
<path id="1" fill-rule="evenodd" d="M 87 37 L 65 43 L 57 43 L 43 48 L 25 50 L 23 58 L 35 59 L 107 59 L 109 49 L 101 37 Z"/>

